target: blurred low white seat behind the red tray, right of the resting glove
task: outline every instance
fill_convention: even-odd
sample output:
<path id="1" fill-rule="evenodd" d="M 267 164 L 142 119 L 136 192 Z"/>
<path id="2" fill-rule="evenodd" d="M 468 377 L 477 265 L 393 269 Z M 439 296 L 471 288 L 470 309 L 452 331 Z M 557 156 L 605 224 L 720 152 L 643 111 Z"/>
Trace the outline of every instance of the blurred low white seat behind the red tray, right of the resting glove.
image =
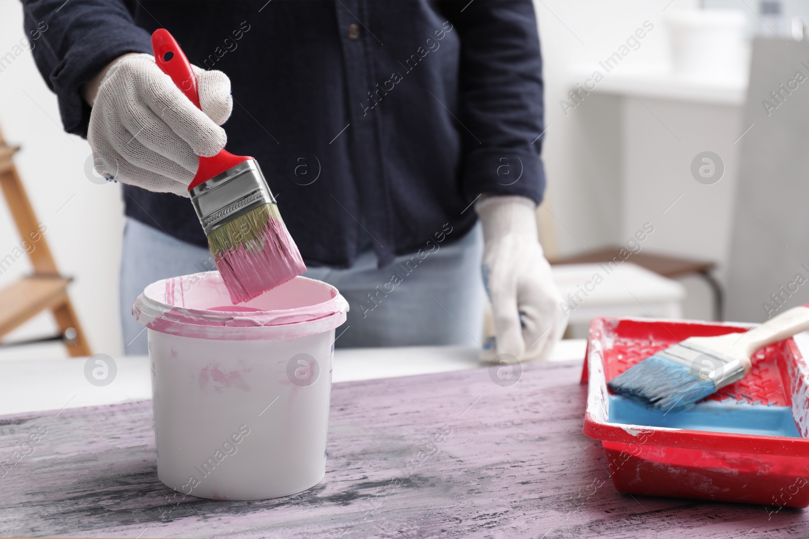
<path id="1" fill-rule="evenodd" d="M 553 266 L 571 324 L 601 316 L 681 318 L 685 289 L 629 262 Z"/>

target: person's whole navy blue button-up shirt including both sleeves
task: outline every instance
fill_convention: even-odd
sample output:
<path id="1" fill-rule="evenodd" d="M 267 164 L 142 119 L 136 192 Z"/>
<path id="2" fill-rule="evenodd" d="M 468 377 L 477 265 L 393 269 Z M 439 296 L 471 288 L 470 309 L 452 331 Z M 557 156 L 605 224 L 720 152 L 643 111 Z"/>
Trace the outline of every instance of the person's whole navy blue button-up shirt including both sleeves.
<path id="1" fill-rule="evenodd" d="M 362 225 L 381 267 L 445 223 L 448 239 L 460 238 L 481 193 L 541 200 L 542 62 L 530 1 L 23 6 L 68 133 L 87 136 L 80 86 L 123 53 L 151 53 L 159 27 L 193 64 L 227 74 L 227 149 L 258 160 L 309 265 L 350 267 Z M 207 246 L 188 200 L 131 186 L 124 198 L 129 217 Z"/>

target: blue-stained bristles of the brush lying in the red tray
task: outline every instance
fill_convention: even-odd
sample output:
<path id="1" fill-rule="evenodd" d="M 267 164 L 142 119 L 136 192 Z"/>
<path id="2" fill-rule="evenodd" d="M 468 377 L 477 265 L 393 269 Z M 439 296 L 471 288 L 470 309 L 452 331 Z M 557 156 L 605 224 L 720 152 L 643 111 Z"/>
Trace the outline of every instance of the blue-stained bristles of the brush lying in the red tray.
<path id="1" fill-rule="evenodd" d="M 612 393 L 661 411 L 691 406 L 716 391 L 713 381 L 662 356 L 641 361 L 616 376 L 607 386 Z"/>

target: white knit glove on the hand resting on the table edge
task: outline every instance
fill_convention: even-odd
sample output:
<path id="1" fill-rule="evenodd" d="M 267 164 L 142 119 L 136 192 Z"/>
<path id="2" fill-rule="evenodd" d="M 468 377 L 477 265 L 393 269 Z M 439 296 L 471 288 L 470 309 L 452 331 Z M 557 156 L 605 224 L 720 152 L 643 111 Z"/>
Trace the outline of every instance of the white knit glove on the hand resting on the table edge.
<path id="1" fill-rule="evenodd" d="M 547 360 L 567 318 L 536 234 L 536 204 L 524 196 L 489 196 L 475 205 L 483 225 L 483 282 L 492 303 L 497 339 L 481 360 L 498 354 Z"/>

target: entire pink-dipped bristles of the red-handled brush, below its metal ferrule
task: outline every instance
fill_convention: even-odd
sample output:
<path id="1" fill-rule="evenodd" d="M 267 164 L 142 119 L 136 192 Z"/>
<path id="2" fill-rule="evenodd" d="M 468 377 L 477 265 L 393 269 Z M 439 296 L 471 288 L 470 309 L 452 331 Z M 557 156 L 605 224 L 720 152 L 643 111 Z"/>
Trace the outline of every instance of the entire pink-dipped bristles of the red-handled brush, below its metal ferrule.
<path id="1" fill-rule="evenodd" d="M 233 303 L 306 271 L 276 204 L 262 204 L 212 230 L 208 246 Z"/>

